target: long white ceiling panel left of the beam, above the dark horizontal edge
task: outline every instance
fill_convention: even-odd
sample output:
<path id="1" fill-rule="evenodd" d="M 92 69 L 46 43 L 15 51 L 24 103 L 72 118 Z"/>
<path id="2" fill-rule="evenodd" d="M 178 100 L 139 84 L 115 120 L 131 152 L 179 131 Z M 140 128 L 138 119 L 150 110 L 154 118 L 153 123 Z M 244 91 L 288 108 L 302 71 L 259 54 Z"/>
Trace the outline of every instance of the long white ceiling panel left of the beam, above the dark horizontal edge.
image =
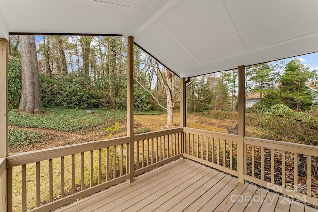
<path id="1" fill-rule="evenodd" d="M 121 34 L 142 11 L 90 0 L 12 0 L 5 6 L 10 32 Z"/>

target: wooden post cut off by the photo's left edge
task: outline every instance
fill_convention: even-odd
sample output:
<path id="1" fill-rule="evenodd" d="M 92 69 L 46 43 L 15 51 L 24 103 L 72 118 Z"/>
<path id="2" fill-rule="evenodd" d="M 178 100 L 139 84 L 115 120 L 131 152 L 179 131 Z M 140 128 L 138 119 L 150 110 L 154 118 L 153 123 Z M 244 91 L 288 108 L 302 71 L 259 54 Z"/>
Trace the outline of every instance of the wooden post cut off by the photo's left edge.
<path id="1" fill-rule="evenodd" d="M 0 38 L 0 158 L 8 152 L 8 41 Z M 2 160 L 0 160 L 2 161 Z M 1 164 L 0 164 L 1 167 Z M 2 166 L 3 167 L 3 166 Z M 2 171 L 1 171 L 2 170 Z M 0 168 L 0 211 L 7 211 L 7 173 Z"/>

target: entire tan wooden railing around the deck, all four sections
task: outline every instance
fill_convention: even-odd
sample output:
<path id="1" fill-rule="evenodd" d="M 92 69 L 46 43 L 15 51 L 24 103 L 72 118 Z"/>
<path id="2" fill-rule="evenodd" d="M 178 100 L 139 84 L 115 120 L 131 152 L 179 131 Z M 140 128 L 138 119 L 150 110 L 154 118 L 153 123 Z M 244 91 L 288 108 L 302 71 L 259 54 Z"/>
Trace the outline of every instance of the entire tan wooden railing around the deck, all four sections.
<path id="1" fill-rule="evenodd" d="M 238 158 L 238 142 L 237 135 L 174 128 L 134 135 L 134 161 L 127 160 L 129 137 L 8 156 L 0 159 L 0 173 L 7 169 L 8 211 L 55 209 L 128 180 L 129 164 L 136 176 L 181 157 L 234 176 L 243 163 L 244 180 L 318 206 L 312 188 L 317 172 L 307 171 L 317 171 L 317 163 L 303 162 L 304 176 L 294 171 L 299 155 L 318 160 L 318 147 L 244 137 L 244 158 Z"/>

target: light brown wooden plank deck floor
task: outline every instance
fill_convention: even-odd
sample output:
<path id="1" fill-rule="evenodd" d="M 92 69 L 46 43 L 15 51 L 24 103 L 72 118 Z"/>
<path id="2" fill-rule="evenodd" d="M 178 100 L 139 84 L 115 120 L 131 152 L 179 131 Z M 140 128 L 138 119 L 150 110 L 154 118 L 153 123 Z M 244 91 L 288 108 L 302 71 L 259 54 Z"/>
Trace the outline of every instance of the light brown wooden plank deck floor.
<path id="1" fill-rule="evenodd" d="M 57 212 L 318 212 L 190 160 L 177 160 Z"/>

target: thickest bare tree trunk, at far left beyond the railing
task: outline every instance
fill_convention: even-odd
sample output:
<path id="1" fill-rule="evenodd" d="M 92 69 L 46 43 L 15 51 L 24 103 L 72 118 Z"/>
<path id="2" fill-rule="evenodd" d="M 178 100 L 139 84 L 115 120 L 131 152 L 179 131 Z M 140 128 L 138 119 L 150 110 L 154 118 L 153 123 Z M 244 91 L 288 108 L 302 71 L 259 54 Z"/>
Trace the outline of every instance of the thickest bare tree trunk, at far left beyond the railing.
<path id="1" fill-rule="evenodd" d="M 22 93 L 18 111 L 40 114 L 43 109 L 35 37 L 34 35 L 20 35 L 19 41 L 22 64 Z"/>

